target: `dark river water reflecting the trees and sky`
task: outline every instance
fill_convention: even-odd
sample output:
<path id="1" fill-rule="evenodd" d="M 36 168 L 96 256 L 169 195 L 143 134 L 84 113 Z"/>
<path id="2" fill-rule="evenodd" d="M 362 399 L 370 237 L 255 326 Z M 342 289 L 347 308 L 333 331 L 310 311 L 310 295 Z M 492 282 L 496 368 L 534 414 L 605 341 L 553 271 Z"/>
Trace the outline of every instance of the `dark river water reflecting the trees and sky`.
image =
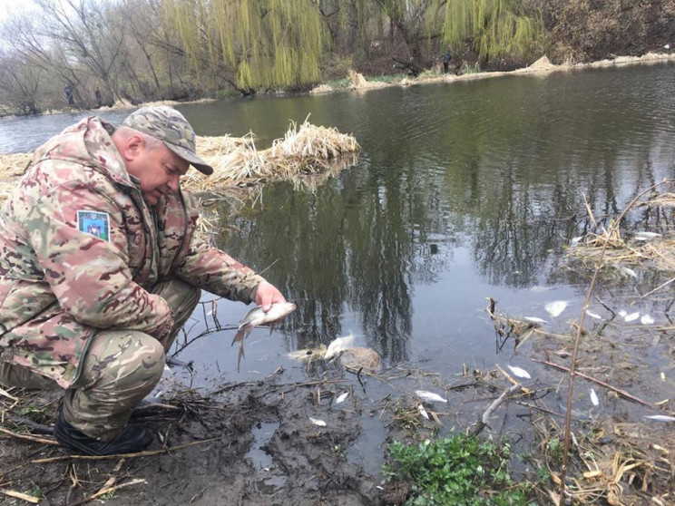
<path id="1" fill-rule="evenodd" d="M 315 193 L 269 185 L 223 219 L 221 248 L 280 287 L 298 311 L 247 340 L 236 373 L 232 330 L 181 353 L 201 377 L 300 371 L 289 351 L 356 336 L 386 365 L 455 374 L 462 365 L 529 364 L 497 353 L 485 297 L 513 316 L 578 317 L 587 289 L 561 268 L 563 246 L 597 216 L 675 174 L 675 67 L 669 63 L 368 92 L 181 105 L 198 134 L 241 136 L 259 148 L 289 121 L 335 126 L 363 151 Z M 108 113 L 121 122 L 128 112 Z M 80 116 L 0 121 L 0 151 L 33 150 Z M 205 294 L 203 300 L 214 297 Z M 208 308 L 208 307 L 207 307 Z M 247 307 L 220 301 L 223 326 Z M 204 312 L 189 336 L 203 330 Z M 658 315 L 657 315 L 658 316 Z M 207 319 L 210 316 L 207 316 Z"/>

